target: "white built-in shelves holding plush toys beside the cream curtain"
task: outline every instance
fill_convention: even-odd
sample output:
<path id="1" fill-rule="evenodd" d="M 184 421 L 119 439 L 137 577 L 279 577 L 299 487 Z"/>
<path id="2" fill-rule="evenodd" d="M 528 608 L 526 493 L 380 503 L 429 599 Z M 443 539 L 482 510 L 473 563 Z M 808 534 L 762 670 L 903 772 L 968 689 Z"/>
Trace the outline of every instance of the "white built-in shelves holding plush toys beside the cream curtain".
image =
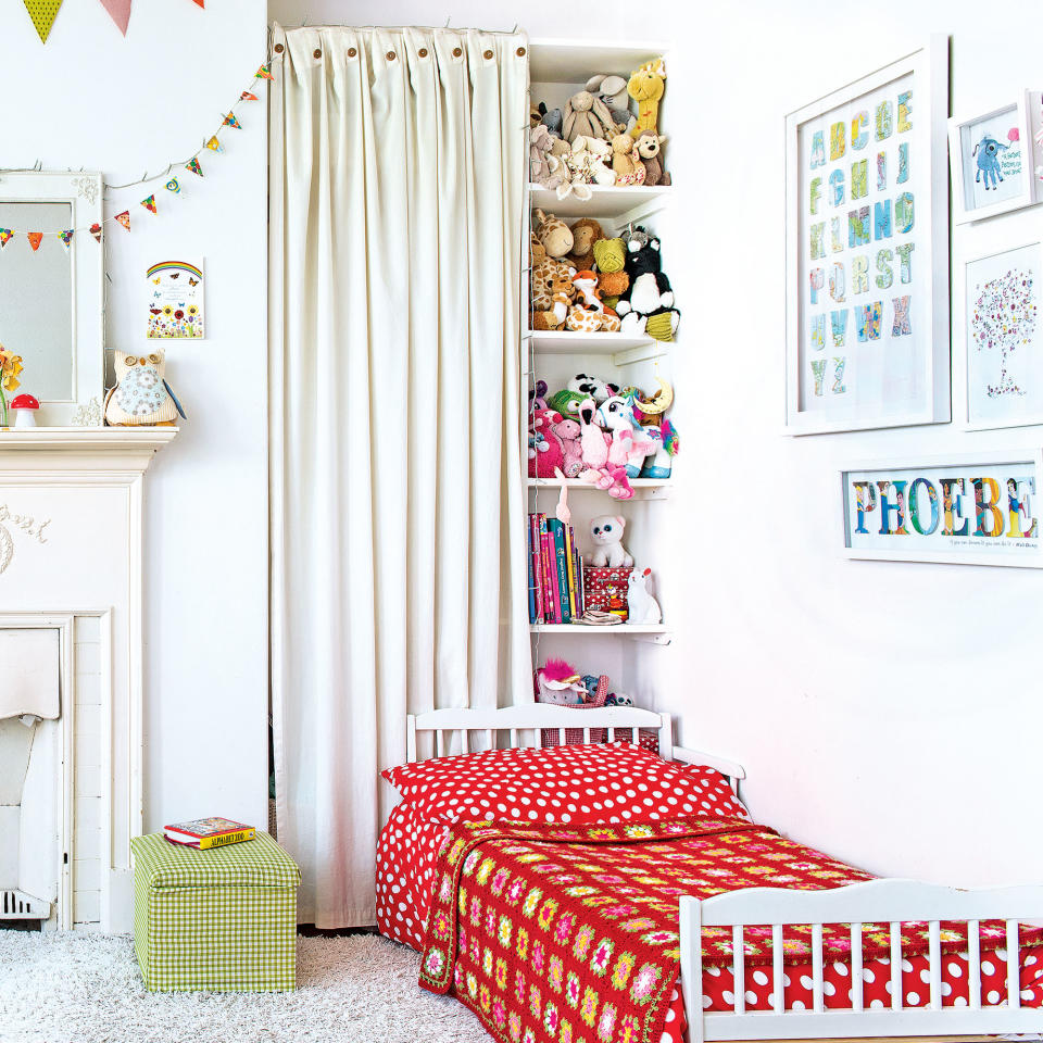
<path id="1" fill-rule="evenodd" d="M 610 41 L 589 41 L 577 43 L 575 40 L 532 39 L 529 41 L 529 80 L 530 100 L 532 103 L 545 101 L 549 108 L 562 105 L 576 91 L 583 88 L 583 84 L 596 73 L 620 74 L 629 77 L 630 73 L 645 62 L 665 56 L 667 73 L 669 73 L 669 48 L 662 43 L 626 43 Z M 669 80 L 667 80 L 669 88 Z M 667 96 L 669 89 L 667 89 Z M 633 102 L 630 102 L 631 110 Z M 663 126 L 659 110 L 659 125 Z M 527 150 L 526 150 L 527 151 Z M 667 167 L 669 156 L 667 155 Z M 646 224 L 655 230 L 663 230 L 667 235 L 664 244 L 664 268 L 669 272 L 670 250 L 680 250 L 678 240 L 674 246 L 671 235 L 667 229 L 667 222 L 659 223 L 659 215 L 669 211 L 674 202 L 676 187 L 674 185 L 650 186 L 601 186 L 591 185 L 589 199 L 579 199 L 575 192 L 569 192 L 564 199 L 558 199 L 553 189 L 544 189 L 539 185 L 528 186 L 528 214 L 531 217 L 533 210 L 539 209 L 555 214 L 573 224 L 580 217 L 593 217 L 601 223 L 607 235 L 621 234 L 628 225 Z M 536 386 L 538 379 L 544 379 L 551 391 L 564 386 L 570 375 L 578 372 L 595 374 L 603 379 L 617 382 L 623 387 L 636 385 L 649 389 L 655 384 L 659 367 L 665 367 L 664 376 L 669 378 L 669 360 L 673 343 L 664 343 L 646 335 L 630 336 L 621 332 L 576 332 L 569 330 L 533 330 L 529 323 L 529 224 L 526 223 L 523 242 L 523 321 L 522 321 L 522 411 L 523 429 L 523 466 L 528 462 L 528 393 Z M 674 476 L 677 465 L 674 466 Z M 589 519 L 602 514 L 624 515 L 630 526 L 625 537 L 625 543 L 634 556 L 639 567 L 652 568 L 653 577 L 658 579 L 661 571 L 666 569 L 663 558 L 663 543 L 657 540 L 661 531 L 662 515 L 659 508 L 652 503 L 669 498 L 674 478 L 653 479 L 633 478 L 630 485 L 633 488 L 633 498 L 626 501 L 614 500 L 603 490 L 580 481 L 578 478 L 526 478 L 527 510 L 540 511 L 553 516 L 554 504 L 563 490 L 570 497 L 573 526 L 577 542 L 583 556 L 590 551 L 587 524 Z M 663 604 L 662 586 L 656 582 L 654 592 L 664 608 L 664 616 L 668 618 L 668 606 Z M 606 656 L 612 663 L 607 673 L 615 675 L 617 668 L 625 675 L 633 668 L 629 655 L 621 649 L 630 642 L 643 642 L 658 645 L 670 643 L 671 633 L 666 624 L 641 626 L 619 624 L 617 626 L 598 626 L 583 623 L 568 624 L 530 624 L 529 633 L 533 641 L 533 651 L 537 642 L 550 640 L 553 642 L 550 650 L 540 650 L 540 655 L 566 656 L 567 651 L 576 639 L 598 637 L 598 655 Z M 626 643 L 608 641 L 608 638 L 627 639 Z M 593 646 L 581 644 L 582 655 L 591 655 Z M 618 653 L 608 650 L 620 650 Z M 615 655 L 615 661 L 612 656 Z M 596 670 L 595 670 L 596 673 Z M 624 690 L 633 686 L 638 678 L 632 676 L 615 677 L 613 680 Z"/>

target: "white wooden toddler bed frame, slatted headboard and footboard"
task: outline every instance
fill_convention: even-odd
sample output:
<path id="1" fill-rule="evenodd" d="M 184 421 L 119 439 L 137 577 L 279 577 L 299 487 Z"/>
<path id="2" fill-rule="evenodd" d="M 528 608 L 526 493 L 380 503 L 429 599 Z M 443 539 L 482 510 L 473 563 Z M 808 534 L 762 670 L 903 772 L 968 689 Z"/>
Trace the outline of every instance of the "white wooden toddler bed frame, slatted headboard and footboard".
<path id="1" fill-rule="evenodd" d="M 564 706 L 533 704 L 502 709 L 441 709 L 410 716 L 407 724 L 407 758 L 424 759 L 418 747 L 424 744 L 432 755 L 448 752 L 447 737 L 461 737 L 460 752 L 472 751 L 472 737 L 483 740 L 481 749 L 539 746 L 541 732 L 556 729 L 561 743 L 566 730 L 582 728 L 589 740 L 593 729 L 607 729 L 608 739 L 637 741 L 638 730 L 654 729 L 658 754 L 664 759 L 701 764 L 726 776 L 738 795 L 739 782 L 745 778 L 734 762 L 673 744 L 671 719 L 637 707 L 605 707 L 577 712 Z M 430 738 L 429 738 L 430 737 Z M 872 880 L 821 891 L 795 891 L 784 888 L 751 888 L 719 894 L 711 899 L 680 900 L 681 975 L 680 980 L 688 1014 L 692 1043 L 716 1040 L 800 1040 L 800 1039 L 868 1039 L 894 1036 L 968 1036 L 983 1033 L 1039 1033 L 1043 1031 L 1043 1010 L 1022 1008 L 1020 1004 L 1018 926 L 1043 925 L 1043 887 L 998 890 L 959 891 L 952 888 L 918 883 L 912 880 Z M 994 1004 L 980 998 L 979 935 L 981 920 L 1006 922 L 1006 994 Z M 941 921 L 966 925 L 969 954 L 969 1003 L 946 1006 L 942 1003 Z M 910 921 L 929 923 L 929 989 L 926 1006 L 903 1006 L 901 925 Z M 866 1009 L 863 1004 L 862 925 L 890 925 L 891 929 L 891 1006 Z M 809 927 L 812 942 L 810 1009 L 787 1009 L 783 992 L 783 928 Z M 850 926 L 852 950 L 851 1009 L 827 1009 L 824 1003 L 822 926 Z M 770 926 L 774 939 L 772 1010 L 747 1010 L 743 982 L 750 972 L 744 965 L 743 929 Z M 703 928 L 730 928 L 736 958 L 732 972 L 738 985 L 733 990 L 731 1011 L 704 1010 L 703 996 Z M 950 923 L 950 929 L 952 925 Z M 978 979 L 978 988 L 975 980 Z M 731 1001 L 729 1001 L 731 1002 Z"/>

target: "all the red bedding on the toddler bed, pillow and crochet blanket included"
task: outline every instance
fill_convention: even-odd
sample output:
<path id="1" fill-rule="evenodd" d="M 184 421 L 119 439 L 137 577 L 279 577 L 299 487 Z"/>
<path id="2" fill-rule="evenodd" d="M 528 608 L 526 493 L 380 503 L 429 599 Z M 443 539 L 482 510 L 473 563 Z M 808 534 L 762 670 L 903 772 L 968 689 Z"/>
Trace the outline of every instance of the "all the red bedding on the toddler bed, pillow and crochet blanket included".
<path id="1" fill-rule="evenodd" d="M 758 827 L 726 780 L 626 743 L 441 757 L 385 772 L 405 797 L 377 852 L 381 933 L 424 953 L 498 1039 L 680 1043 L 678 897 L 871 879 Z M 429 916 L 430 914 L 430 916 Z M 903 1002 L 929 1002 L 926 929 L 906 925 Z M 851 1006 L 846 929 L 824 932 L 825 1005 Z M 867 1007 L 890 1005 L 885 932 L 864 929 Z M 1021 1003 L 1043 1006 L 1043 931 L 1022 931 Z M 982 1003 L 1005 995 L 1002 925 L 983 925 Z M 812 1006 L 809 950 L 786 938 L 788 1008 Z M 943 935 L 943 1004 L 968 996 L 966 940 Z M 704 940 L 703 1005 L 733 1003 L 730 932 Z M 745 1004 L 772 1008 L 770 937 L 746 932 Z"/>

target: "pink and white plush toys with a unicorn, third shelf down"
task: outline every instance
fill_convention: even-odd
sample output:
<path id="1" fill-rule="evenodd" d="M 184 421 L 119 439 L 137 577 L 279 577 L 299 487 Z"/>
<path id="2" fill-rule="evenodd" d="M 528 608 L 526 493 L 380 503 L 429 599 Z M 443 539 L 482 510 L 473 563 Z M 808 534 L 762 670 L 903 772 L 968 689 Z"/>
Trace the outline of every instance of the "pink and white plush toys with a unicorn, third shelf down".
<path id="1" fill-rule="evenodd" d="M 614 500 L 629 500 L 631 478 L 670 477 L 680 450 L 665 415 L 673 403 L 674 390 L 662 378 L 652 395 L 586 373 L 551 395 L 539 381 L 529 402 L 529 477 L 580 478 Z"/>

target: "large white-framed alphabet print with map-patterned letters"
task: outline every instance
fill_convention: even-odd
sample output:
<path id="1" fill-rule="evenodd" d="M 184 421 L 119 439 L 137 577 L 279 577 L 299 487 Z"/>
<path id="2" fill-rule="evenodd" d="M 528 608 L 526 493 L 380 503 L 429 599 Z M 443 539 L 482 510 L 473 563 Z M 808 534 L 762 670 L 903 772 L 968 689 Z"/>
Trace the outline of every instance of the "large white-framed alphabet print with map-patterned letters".
<path id="1" fill-rule="evenodd" d="M 787 116 L 791 435 L 950 419 L 944 37 Z"/>

